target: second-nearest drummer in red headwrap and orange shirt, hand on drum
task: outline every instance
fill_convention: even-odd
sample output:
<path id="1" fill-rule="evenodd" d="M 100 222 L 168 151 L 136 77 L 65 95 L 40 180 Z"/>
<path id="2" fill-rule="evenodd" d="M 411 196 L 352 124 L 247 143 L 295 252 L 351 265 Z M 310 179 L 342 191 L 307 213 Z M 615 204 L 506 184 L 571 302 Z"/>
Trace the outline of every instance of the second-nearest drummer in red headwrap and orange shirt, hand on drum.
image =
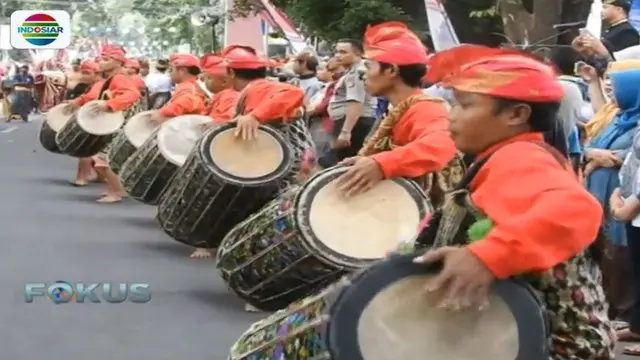
<path id="1" fill-rule="evenodd" d="M 383 32 L 384 38 L 378 36 Z M 438 172 L 456 153 L 444 101 L 420 88 L 427 51 L 418 37 L 399 22 L 376 25 L 365 33 L 365 57 L 367 90 L 389 99 L 395 110 L 382 120 L 361 156 L 342 162 L 351 166 L 338 182 L 347 196 L 383 179 Z"/>

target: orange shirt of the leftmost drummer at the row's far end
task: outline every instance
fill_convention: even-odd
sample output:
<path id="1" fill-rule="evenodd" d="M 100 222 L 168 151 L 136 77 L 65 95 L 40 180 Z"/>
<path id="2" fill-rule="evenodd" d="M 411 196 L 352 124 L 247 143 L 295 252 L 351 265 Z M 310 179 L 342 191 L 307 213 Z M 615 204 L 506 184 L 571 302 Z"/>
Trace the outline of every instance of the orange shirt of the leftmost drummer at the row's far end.
<path id="1" fill-rule="evenodd" d="M 102 89 L 105 81 L 109 80 L 96 82 L 89 92 L 76 98 L 73 103 L 75 105 L 82 106 L 89 101 L 98 100 L 100 97 L 100 90 Z M 128 109 L 135 104 L 136 101 L 140 100 L 141 97 L 140 91 L 136 88 L 133 80 L 124 74 L 113 75 L 106 91 L 108 93 L 107 106 L 113 111 Z"/>

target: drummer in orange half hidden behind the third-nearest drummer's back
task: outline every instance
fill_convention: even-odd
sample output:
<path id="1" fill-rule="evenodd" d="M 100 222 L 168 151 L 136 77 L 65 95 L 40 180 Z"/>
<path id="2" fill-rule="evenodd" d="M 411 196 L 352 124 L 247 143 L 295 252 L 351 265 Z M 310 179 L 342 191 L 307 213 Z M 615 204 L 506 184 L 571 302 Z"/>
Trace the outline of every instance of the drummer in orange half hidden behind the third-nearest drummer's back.
<path id="1" fill-rule="evenodd" d="M 203 114 L 217 122 L 227 122 L 235 115 L 240 93 L 231 88 L 224 59 L 215 55 L 205 55 L 201 59 L 204 83 L 213 93 L 213 98 Z"/>

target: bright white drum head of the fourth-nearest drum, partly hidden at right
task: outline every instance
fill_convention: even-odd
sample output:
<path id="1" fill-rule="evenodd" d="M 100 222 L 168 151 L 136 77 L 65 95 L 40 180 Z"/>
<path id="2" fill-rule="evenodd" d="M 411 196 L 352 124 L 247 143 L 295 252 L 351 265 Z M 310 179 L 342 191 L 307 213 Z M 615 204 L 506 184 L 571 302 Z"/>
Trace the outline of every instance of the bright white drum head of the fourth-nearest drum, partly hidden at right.
<path id="1" fill-rule="evenodd" d="M 172 164 L 182 166 L 205 127 L 213 120 L 204 115 L 182 115 L 165 122 L 158 130 L 158 150 Z"/>

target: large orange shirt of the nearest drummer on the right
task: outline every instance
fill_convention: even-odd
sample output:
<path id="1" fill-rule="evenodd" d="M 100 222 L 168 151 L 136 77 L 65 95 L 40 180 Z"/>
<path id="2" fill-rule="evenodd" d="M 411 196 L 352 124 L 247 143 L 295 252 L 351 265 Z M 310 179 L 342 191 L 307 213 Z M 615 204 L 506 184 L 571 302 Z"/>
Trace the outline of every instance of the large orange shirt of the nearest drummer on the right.
<path id="1" fill-rule="evenodd" d="M 471 182 L 471 199 L 494 223 L 467 246 L 500 279 L 548 270 L 586 249 L 596 238 L 602 207 L 578 182 L 569 164 L 525 133 L 497 149 Z"/>

